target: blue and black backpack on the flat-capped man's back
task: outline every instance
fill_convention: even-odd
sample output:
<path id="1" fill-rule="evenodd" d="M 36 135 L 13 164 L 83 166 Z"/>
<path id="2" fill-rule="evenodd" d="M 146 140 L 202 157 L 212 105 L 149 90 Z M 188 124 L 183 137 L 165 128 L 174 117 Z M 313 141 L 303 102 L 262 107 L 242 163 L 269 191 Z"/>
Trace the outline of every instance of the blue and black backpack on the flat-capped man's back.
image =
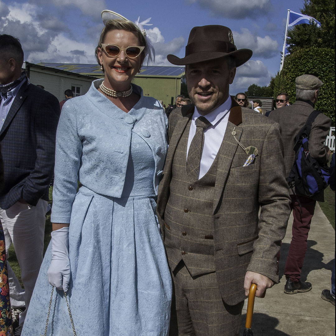
<path id="1" fill-rule="evenodd" d="M 320 113 L 322 112 L 314 110 L 295 138 L 295 161 L 286 180 L 292 191 L 295 187 L 293 193 L 296 195 L 311 197 L 328 186 L 330 177 L 328 166 L 321 166 L 309 154 L 311 124 Z"/>

